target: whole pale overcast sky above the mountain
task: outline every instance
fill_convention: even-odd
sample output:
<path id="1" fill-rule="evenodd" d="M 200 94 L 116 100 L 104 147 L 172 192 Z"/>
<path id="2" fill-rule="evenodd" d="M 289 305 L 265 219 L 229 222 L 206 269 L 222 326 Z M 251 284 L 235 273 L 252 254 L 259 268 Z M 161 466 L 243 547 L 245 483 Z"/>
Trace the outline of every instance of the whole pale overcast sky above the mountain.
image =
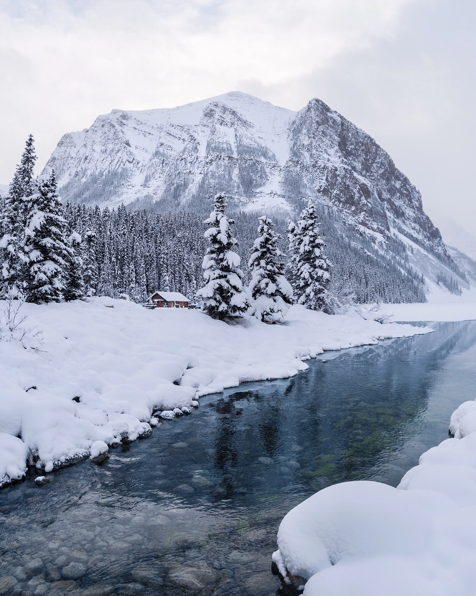
<path id="1" fill-rule="evenodd" d="M 112 108 L 319 97 L 476 235 L 475 23 L 474 0 L 0 0 L 0 182 L 30 131 L 40 170 Z"/>

